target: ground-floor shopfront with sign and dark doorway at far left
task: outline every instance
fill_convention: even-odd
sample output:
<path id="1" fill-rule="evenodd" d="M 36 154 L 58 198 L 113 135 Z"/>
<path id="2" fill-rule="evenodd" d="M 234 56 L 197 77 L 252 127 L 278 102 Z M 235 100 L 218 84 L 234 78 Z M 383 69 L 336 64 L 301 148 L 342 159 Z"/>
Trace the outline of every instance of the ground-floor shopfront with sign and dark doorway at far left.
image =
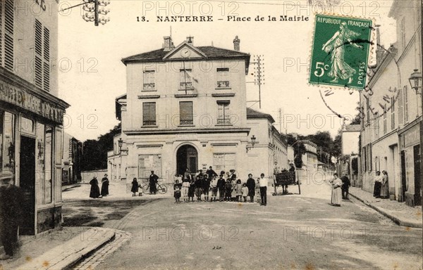
<path id="1" fill-rule="evenodd" d="M 63 114 L 68 104 L 0 68 L 0 173 L 24 193 L 20 234 L 61 222 Z"/>

